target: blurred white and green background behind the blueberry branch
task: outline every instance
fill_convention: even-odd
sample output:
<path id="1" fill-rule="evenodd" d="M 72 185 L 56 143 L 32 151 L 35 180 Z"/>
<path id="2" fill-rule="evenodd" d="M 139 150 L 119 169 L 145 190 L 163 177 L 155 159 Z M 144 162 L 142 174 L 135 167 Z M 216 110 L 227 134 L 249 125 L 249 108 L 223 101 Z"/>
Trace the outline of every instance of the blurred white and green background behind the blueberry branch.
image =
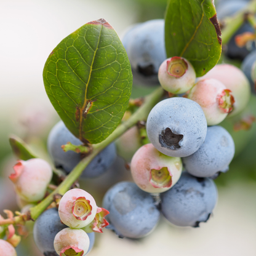
<path id="1" fill-rule="evenodd" d="M 59 120 L 42 82 L 44 63 L 52 49 L 68 34 L 92 20 L 105 18 L 119 36 L 130 25 L 164 18 L 166 0 L 0 0 L 0 214 L 18 210 L 12 183 L 12 156 L 8 137 L 18 135 L 34 152 L 47 159 L 46 139 Z M 241 60 L 228 60 L 241 65 Z M 153 87 L 134 85 L 132 97 Z M 256 116 L 253 97 L 246 111 Z M 109 230 L 98 235 L 90 255 L 256 255 L 256 125 L 248 131 L 233 131 L 234 121 L 223 126 L 236 142 L 236 158 L 226 174 L 215 180 L 219 199 L 214 215 L 200 228 L 178 228 L 161 220 L 156 230 L 138 241 L 119 239 Z M 98 204 L 105 191 L 121 180 L 131 180 L 125 161 L 116 159 L 103 177 L 86 180 L 82 188 Z M 118 175 L 117 175 L 118 174 Z M 114 178 L 113 178 L 114 177 Z M 42 256 L 33 234 L 22 239 L 18 256 Z"/>

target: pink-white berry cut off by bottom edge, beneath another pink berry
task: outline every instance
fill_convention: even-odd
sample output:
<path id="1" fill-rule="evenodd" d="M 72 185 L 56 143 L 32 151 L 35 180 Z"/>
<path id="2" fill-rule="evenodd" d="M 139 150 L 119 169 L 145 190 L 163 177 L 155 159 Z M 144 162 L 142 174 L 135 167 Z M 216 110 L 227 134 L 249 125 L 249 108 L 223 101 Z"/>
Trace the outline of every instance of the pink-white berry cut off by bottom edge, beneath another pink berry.
<path id="1" fill-rule="evenodd" d="M 60 256 L 86 255 L 90 245 L 89 236 L 83 230 L 64 228 L 54 239 L 54 249 Z"/>

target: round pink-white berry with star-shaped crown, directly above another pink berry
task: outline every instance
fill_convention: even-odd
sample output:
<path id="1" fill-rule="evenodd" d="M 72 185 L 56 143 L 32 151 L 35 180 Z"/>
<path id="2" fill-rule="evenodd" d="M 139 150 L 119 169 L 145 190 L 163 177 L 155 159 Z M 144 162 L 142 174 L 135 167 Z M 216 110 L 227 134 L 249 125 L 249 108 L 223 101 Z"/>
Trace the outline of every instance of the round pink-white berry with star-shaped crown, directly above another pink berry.
<path id="1" fill-rule="evenodd" d="M 60 220 L 70 228 L 83 228 L 94 220 L 97 206 L 94 198 L 84 190 L 67 191 L 58 206 Z"/>

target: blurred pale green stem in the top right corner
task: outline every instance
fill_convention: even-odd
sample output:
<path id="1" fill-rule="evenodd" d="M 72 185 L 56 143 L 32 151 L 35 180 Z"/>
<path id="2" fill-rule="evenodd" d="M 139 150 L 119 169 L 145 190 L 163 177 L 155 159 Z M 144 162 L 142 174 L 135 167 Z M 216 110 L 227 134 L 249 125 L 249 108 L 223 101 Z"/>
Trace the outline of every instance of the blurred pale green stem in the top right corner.
<path id="1" fill-rule="evenodd" d="M 256 0 L 251 1 L 245 9 L 242 9 L 232 18 L 227 19 L 225 28 L 222 29 L 222 44 L 227 44 L 230 41 L 230 38 L 244 22 L 245 14 L 248 12 L 256 12 Z"/>

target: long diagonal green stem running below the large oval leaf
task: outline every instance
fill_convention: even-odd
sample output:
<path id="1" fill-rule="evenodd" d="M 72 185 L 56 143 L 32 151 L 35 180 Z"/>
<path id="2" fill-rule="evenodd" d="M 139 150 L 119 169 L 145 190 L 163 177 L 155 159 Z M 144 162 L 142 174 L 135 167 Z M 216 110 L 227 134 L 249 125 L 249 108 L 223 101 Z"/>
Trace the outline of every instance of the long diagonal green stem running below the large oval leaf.
<path id="1" fill-rule="evenodd" d="M 156 103 L 158 103 L 159 100 L 161 100 L 163 93 L 164 93 L 164 90 L 162 90 L 162 87 L 159 87 L 158 89 L 154 90 L 154 92 L 152 92 L 150 95 L 145 97 L 145 101 L 143 105 L 140 106 L 140 108 L 138 108 L 138 110 L 134 114 L 132 114 L 132 116 L 130 116 L 130 118 L 127 121 L 122 122 L 122 124 L 120 124 L 120 126 L 118 126 L 118 128 L 116 128 L 116 130 L 114 130 L 114 132 L 108 138 L 106 138 L 106 140 L 96 145 L 92 145 L 92 148 L 93 148 L 92 153 L 89 154 L 89 156 L 87 156 L 86 158 L 82 159 L 79 162 L 79 164 L 76 167 L 74 167 L 72 172 L 70 172 L 70 174 L 66 176 L 65 180 L 63 180 L 63 182 L 60 183 L 60 185 L 58 186 L 58 188 L 56 188 L 56 190 L 50 193 L 49 196 L 47 196 L 47 198 L 42 200 L 37 206 L 34 206 L 30 209 L 31 218 L 33 220 L 36 220 L 36 218 L 38 218 L 39 215 L 42 214 L 42 212 L 52 202 L 54 198 L 54 194 L 62 194 L 62 195 L 65 194 L 66 191 L 70 189 L 71 185 L 76 180 L 78 180 L 84 168 L 88 166 L 89 162 L 92 161 L 92 159 L 100 151 L 102 151 L 103 148 L 105 148 L 111 142 L 116 140 L 116 138 L 124 134 L 124 132 L 126 132 L 126 130 L 128 130 L 130 127 L 137 124 L 138 121 L 146 120 L 153 106 L 156 105 Z"/>

